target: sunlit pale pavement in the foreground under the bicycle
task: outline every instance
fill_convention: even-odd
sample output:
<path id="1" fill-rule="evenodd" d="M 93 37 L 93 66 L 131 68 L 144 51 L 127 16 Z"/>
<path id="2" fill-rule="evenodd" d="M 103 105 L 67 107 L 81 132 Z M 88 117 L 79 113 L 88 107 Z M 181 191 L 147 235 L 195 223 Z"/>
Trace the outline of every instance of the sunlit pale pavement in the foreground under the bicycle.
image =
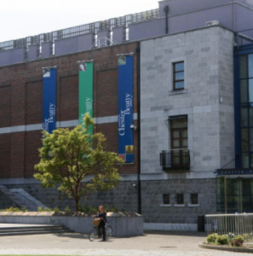
<path id="1" fill-rule="evenodd" d="M 2 224 L 1 224 L 2 225 Z M 1 226 L 0 226 L 1 228 Z M 89 255 L 89 256 L 233 256 L 231 253 L 198 247 L 205 233 L 149 231 L 144 236 L 89 241 L 77 233 L 2 236 L 0 255 Z"/>

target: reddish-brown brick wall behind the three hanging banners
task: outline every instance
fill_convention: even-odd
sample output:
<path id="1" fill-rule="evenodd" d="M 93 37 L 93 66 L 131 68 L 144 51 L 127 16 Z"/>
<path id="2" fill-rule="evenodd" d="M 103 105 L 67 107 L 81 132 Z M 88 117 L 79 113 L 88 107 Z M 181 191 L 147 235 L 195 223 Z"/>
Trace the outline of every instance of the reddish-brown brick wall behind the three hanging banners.
<path id="1" fill-rule="evenodd" d="M 42 123 L 42 67 L 58 67 L 57 121 L 78 119 L 78 61 L 94 60 L 94 117 L 118 114 L 118 54 L 135 52 L 136 44 L 121 44 L 78 54 L 0 67 L 0 128 Z M 136 55 L 134 64 L 134 110 L 137 108 Z M 118 151 L 117 123 L 97 125 L 107 137 L 108 150 Z M 0 178 L 32 177 L 37 164 L 40 131 L 0 135 Z M 135 164 L 120 166 L 121 173 L 136 173 Z"/>

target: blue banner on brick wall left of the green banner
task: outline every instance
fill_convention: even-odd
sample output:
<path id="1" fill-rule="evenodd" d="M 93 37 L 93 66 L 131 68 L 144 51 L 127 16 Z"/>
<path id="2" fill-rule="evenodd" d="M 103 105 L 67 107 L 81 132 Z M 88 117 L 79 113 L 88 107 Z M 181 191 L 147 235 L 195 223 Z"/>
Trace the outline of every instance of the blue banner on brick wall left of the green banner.
<path id="1" fill-rule="evenodd" d="M 56 129 L 57 70 L 43 69 L 43 130 L 52 133 Z"/>

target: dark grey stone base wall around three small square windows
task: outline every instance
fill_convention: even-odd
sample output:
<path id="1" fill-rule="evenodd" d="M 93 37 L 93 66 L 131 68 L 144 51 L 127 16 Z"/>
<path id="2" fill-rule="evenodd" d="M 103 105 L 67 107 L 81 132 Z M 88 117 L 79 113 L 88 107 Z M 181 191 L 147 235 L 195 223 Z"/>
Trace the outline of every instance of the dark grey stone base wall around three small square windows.
<path id="1" fill-rule="evenodd" d="M 143 181 L 142 214 L 145 223 L 197 224 L 198 215 L 216 213 L 216 179 Z M 190 195 L 198 194 L 198 206 L 191 206 Z M 170 206 L 163 206 L 163 195 L 170 194 Z M 184 206 L 176 205 L 176 195 L 184 194 Z"/>

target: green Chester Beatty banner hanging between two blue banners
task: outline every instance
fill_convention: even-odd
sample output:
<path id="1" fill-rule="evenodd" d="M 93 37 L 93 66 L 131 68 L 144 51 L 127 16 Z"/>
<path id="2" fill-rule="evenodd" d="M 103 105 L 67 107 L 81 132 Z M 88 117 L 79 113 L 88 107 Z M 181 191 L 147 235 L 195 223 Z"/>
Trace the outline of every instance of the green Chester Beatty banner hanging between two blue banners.
<path id="1" fill-rule="evenodd" d="M 93 62 L 83 61 L 79 63 L 79 125 L 83 124 L 85 113 L 93 118 Z"/>

